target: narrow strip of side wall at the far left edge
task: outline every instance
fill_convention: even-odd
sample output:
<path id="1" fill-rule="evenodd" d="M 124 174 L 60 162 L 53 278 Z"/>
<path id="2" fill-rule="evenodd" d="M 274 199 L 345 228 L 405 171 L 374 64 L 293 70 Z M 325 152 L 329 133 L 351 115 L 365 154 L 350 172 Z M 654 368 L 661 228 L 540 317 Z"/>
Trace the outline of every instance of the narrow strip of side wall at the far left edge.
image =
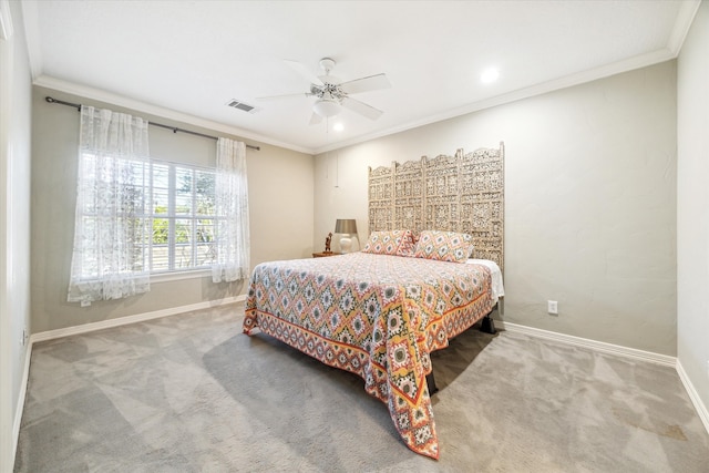
<path id="1" fill-rule="evenodd" d="M 32 90 L 22 10 L 19 2 L 9 7 L 3 21 L 14 33 L 0 39 L 0 471 L 12 470 L 28 349 L 23 330 L 30 327 Z"/>

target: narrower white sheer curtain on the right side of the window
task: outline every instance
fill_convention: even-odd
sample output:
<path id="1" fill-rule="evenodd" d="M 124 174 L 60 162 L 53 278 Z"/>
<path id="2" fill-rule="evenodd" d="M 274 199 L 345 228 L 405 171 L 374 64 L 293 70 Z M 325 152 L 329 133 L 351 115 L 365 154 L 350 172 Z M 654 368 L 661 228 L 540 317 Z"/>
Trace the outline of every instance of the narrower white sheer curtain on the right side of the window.
<path id="1" fill-rule="evenodd" d="M 217 141 L 215 248 L 212 280 L 236 281 L 249 277 L 248 186 L 246 145 Z"/>

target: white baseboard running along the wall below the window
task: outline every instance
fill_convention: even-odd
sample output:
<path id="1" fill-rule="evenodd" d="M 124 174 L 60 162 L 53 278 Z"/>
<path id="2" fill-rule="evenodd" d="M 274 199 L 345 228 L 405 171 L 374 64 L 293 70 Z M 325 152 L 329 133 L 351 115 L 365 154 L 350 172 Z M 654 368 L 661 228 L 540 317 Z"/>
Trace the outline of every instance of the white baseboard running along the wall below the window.
<path id="1" fill-rule="evenodd" d="M 48 330 L 39 333 L 32 333 L 30 341 L 37 343 L 39 341 L 53 340 L 55 338 L 69 337 L 72 335 L 88 333 L 95 330 L 103 330 L 113 327 L 126 326 L 129 323 L 143 322 L 146 320 L 160 319 L 162 317 L 175 316 L 177 313 L 191 312 L 193 310 L 208 309 L 210 307 L 225 306 L 227 304 L 240 302 L 246 300 L 246 296 L 227 297 L 226 299 L 207 300 L 204 302 L 191 304 L 188 306 L 171 307 L 169 309 L 155 310 L 152 312 L 136 313 L 134 316 L 119 317 L 115 319 L 102 320 L 100 322 L 84 323 L 81 326 L 66 327 L 63 329 Z"/>

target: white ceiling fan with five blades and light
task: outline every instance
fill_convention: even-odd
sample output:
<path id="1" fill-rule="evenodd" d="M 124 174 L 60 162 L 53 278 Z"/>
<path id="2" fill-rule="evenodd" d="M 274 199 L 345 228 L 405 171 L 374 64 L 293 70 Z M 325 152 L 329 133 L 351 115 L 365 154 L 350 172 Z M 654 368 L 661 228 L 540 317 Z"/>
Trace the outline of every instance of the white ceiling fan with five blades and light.
<path id="1" fill-rule="evenodd" d="M 314 74 L 308 68 L 297 61 L 285 62 L 310 82 L 310 90 L 305 93 L 305 96 L 317 97 L 317 101 L 312 104 L 311 125 L 320 123 L 323 117 L 337 115 L 341 112 L 342 107 L 359 113 L 370 120 L 377 120 L 383 113 L 381 110 L 374 109 L 364 102 L 352 99 L 350 94 L 390 88 L 391 84 L 387 79 L 387 74 L 369 75 L 367 78 L 342 82 L 340 79 L 330 75 L 330 71 L 335 68 L 335 60 L 330 58 L 322 58 L 320 60 L 320 68 L 325 71 L 325 75 Z M 304 93 L 271 95 L 258 97 L 257 100 L 280 100 L 302 95 Z"/>

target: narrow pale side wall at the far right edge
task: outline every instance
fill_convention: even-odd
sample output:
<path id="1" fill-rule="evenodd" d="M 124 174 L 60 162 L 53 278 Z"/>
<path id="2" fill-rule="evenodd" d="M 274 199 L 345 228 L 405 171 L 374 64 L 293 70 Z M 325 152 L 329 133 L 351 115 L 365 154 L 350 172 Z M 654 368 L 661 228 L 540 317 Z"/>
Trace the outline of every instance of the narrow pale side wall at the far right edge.
<path id="1" fill-rule="evenodd" d="M 709 2 L 695 17 L 677 78 L 677 358 L 709 408 Z"/>

